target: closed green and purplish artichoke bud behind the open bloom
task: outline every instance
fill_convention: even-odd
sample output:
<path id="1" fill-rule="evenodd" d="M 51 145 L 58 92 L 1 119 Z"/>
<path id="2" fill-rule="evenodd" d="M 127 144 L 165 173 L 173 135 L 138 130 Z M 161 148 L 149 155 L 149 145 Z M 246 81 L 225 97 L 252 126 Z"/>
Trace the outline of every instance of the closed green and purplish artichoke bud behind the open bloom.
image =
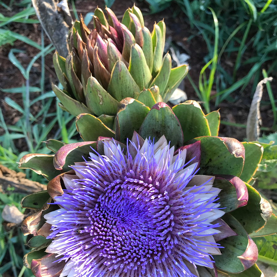
<path id="1" fill-rule="evenodd" d="M 152 34 L 144 26 L 135 5 L 119 22 L 106 8 L 94 11 L 94 29 L 89 30 L 81 16 L 69 34 L 70 54 L 54 53 L 53 62 L 63 90 L 52 89 L 61 108 L 77 116 L 114 116 L 118 102 L 131 97 L 141 102 L 159 102 L 171 97 L 187 74 L 187 66 L 171 68 L 171 56 L 163 56 L 166 26 L 155 23 Z M 101 118 L 100 118 L 101 120 Z"/>

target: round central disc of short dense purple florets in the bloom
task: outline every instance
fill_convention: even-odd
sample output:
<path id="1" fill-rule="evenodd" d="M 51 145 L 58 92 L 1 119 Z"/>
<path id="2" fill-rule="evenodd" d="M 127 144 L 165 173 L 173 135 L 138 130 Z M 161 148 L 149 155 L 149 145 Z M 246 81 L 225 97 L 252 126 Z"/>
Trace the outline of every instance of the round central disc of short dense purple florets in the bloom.
<path id="1" fill-rule="evenodd" d="M 153 261 L 162 263 L 171 253 L 174 211 L 159 186 L 158 180 L 145 182 L 142 175 L 126 176 L 110 183 L 93 208 L 87 207 L 90 226 L 84 232 L 92 236 L 90 243 L 100 249 L 109 270 L 120 267 L 144 273 Z"/>

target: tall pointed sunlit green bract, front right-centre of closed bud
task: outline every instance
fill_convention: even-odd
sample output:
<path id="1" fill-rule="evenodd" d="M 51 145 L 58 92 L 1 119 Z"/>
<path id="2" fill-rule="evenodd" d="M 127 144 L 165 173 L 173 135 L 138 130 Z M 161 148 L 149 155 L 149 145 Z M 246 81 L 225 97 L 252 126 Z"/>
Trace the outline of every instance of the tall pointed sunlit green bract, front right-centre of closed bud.
<path id="1" fill-rule="evenodd" d="M 147 65 L 143 50 L 137 43 L 133 44 L 131 47 L 129 72 L 140 90 L 148 88 L 152 79 L 152 74 Z"/>

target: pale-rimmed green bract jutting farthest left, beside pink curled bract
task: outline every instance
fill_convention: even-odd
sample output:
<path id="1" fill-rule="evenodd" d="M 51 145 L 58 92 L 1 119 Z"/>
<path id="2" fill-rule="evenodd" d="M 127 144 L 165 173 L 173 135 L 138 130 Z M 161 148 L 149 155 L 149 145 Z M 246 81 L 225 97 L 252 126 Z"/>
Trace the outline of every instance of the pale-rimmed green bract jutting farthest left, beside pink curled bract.
<path id="1" fill-rule="evenodd" d="M 54 155 L 27 154 L 20 159 L 18 167 L 30 168 L 50 181 L 61 173 L 54 168 L 53 159 Z"/>

